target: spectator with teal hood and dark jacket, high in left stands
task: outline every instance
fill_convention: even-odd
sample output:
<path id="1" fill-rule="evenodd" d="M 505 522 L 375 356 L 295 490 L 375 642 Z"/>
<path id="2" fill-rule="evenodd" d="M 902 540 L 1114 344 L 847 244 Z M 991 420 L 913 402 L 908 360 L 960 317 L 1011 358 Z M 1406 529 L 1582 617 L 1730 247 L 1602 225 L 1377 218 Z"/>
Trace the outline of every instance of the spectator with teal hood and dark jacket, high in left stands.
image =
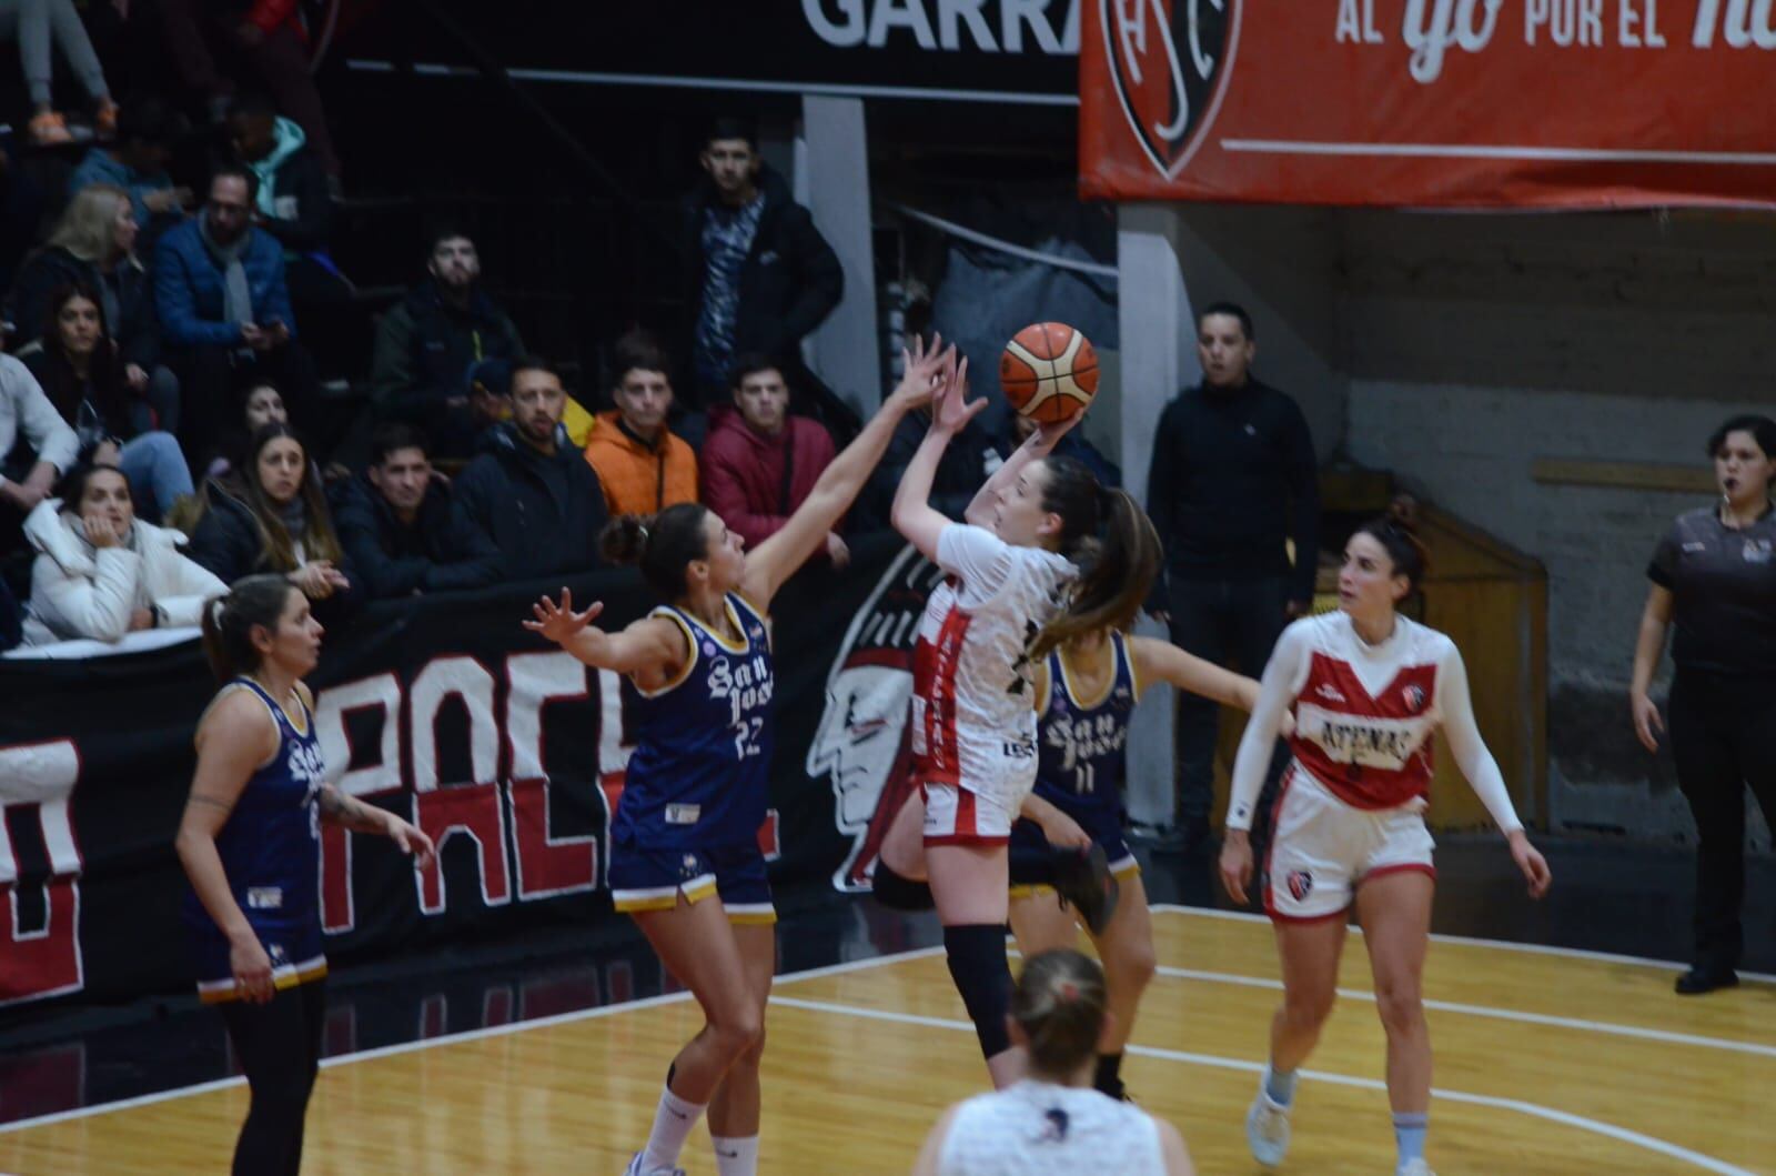
<path id="1" fill-rule="evenodd" d="M 337 282 L 327 259 L 332 194 L 302 128 L 279 117 L 268 98 L 249 94 L 229 110 L 227 131 L 234 158 L 259 181 L 252 222 L 284 245 L 286 281 L 295 297 L 309 284 Z M 316 266 L 321 272 L 311 274 Z"/>

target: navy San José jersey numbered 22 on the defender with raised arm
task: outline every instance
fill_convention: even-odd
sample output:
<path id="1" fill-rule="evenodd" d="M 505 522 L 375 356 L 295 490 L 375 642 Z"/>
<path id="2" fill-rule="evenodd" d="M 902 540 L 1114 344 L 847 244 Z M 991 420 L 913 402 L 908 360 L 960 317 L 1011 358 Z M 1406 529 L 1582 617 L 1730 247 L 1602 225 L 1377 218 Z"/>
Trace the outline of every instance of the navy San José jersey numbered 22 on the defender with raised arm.
<path id="1" fill-rule="evenodd" d="M 623 680 L 636 721 L 623 798 L 611 824 L 622 846 L 691 849 L 751 844 L 765 819 L 771 771 L 771 634 L 765 618 L 728 593 L 741 632 L 732 645 L 684 609 L 650 616 L 684 629 L 691 659 L 677 682 L 643 691 Z"/>

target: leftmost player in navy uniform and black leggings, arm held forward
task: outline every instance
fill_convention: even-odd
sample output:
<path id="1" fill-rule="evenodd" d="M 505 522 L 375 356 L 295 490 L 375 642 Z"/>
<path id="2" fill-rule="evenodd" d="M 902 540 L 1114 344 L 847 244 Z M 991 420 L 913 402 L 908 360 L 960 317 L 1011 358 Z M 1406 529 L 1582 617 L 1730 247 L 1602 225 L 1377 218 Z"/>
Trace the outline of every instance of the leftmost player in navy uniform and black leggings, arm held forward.
<path id="1" fill-rule="evenodd" d="M 252 1103 L 234 1176 L 295 1176 L 320 1071 L 327 1009 L 320 822 L 378 833 L 414 869 L 432 838 L 325 782 L 314 698 L 321 625 L 282 576 L 249 576 L 204 608 L 204 652 L 222 682 L 197 721 L 197 771 L 176 849 L 190 878 L 185 926 L 197 993 L 217 1004 Z"/>

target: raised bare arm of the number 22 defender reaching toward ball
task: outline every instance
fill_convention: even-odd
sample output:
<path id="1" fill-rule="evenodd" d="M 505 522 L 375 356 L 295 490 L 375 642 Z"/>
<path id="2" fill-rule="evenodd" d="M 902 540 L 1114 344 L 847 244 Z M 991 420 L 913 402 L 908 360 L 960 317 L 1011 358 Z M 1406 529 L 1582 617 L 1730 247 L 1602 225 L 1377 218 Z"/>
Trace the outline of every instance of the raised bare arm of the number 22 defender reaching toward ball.
<path id="1" fill-rule="evenodd" d="M 806 501 L 796 508 L 781 529 L 746 554 L 741 595 L 760 611 L 771 611 L 776 590 L 826 542 L 840 515 L 851 510 L 863 481 L 876 469 L 883 451 L 888 449 L 888 441 L 893 439 L 900 417 L 931 400 L 947 369 L 955 362 L 955 348 L 938 350 L 940 343 L 943 339 L 932 339 L 932 348 L 927 352 L 915 339 L 913 350 L 902 352 L 906 375 L 900 377 L 900 384 L 888 394 L 883 407 L 876 410 L 856 441 L 821 471 L 821 480 L 813 483 Z"/>

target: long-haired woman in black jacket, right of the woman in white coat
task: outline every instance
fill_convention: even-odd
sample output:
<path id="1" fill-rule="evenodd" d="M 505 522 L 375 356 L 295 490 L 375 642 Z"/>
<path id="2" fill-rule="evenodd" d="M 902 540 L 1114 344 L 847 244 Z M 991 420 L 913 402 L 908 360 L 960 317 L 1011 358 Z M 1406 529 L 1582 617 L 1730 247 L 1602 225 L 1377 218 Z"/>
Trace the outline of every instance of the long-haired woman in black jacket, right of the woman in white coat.
<path id="1" fill-rule="evenodd" d="M 254 433 L 238 483 L 208 481 L 202 508 L 192 558 L 224 581 L 279 572 L 334 622 L 362 599 L 307 448 L 288 425 Z"/>

